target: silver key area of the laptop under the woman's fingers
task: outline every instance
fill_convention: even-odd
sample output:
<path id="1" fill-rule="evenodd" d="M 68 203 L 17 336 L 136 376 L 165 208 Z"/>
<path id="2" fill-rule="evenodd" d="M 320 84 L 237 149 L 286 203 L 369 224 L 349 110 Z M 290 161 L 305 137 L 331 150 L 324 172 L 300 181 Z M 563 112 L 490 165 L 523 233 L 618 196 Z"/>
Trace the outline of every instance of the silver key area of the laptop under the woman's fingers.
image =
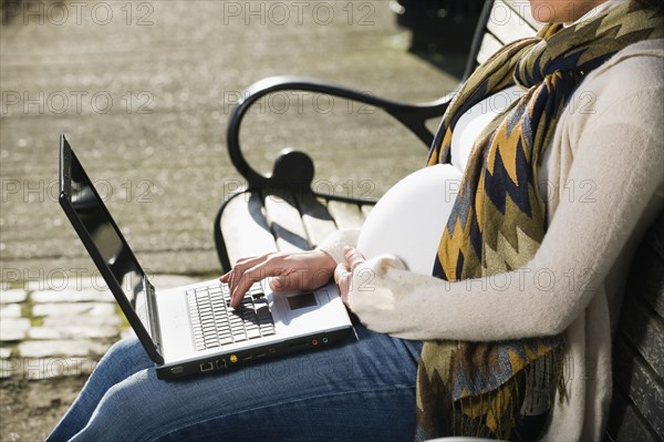
<path id="1" fill-rule="evenodd" d="M 187 290 L 196 350 L 274 335 L 274 322 L 260 284 L 255 284 L 237 309 L 229 305 L 225 284 Z"/>

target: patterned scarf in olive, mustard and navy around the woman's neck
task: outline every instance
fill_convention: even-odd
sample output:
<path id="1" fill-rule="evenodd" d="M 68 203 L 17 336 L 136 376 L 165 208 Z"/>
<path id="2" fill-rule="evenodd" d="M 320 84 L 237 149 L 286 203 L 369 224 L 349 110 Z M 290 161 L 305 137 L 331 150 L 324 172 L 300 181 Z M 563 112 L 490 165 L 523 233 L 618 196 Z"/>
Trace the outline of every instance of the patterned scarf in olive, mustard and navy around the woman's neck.
<path id="1" fill-rule="evenodd" d="M 538 169 L 568 100 L 584 75 L 614 53 L 662 35 L 661 16 L 625 1 L 592 21 L 546 25 L 475 71 L 443 119 L 428 165 L 450 162 L 455 125 L 473 105 L 513 84 L 526 92 L 476 142 L 434 276 L 449 281 L 488 277 L 532 259 L 547 226 Z M 417 374 L 416 439 L 468 433 L 509 438 L 523 401 L 532 405 L 546 398 L 550 408 L 556 381 L 562 379 L 562 336 L 425 342 Z"/>

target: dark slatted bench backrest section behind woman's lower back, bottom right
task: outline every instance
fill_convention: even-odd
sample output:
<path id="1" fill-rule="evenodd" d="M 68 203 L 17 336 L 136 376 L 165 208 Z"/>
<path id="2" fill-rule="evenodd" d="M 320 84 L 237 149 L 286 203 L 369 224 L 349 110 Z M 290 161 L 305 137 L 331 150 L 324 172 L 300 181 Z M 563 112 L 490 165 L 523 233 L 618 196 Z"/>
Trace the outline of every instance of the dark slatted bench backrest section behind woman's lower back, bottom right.
<path id="1" fill-rule="evenodd" d="M 606 439 L 664 440 L 664 214 L 632 260 L 613 342 Z"/>

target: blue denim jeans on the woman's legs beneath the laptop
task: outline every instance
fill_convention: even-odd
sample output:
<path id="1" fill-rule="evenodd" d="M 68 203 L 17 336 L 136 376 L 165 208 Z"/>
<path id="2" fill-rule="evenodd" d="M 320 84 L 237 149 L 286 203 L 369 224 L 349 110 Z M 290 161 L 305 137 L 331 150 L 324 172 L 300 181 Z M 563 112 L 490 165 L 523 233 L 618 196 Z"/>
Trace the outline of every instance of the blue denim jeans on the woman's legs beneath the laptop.
<path id="1" fill-rule="evenodd" d="M 421 342 L 357 342 L 162 381 L 127 339 L 100 361 L 48 441 L 408 441 Z"/>

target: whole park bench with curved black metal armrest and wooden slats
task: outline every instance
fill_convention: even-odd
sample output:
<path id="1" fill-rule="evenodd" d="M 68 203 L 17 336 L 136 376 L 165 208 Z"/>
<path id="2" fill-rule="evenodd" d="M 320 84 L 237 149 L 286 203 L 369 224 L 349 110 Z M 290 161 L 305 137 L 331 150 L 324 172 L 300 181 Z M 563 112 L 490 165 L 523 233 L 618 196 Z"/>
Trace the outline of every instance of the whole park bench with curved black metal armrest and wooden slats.
<path id="1" fill-rule="evenodd" d="M 464 79 L 501 45 L 540 28 L 527 0 L 487 0 Z M 269 176 L 258 173 L 240 148 L 240 125 L 261 97 L 287 90 L 330 94 L 383 110 L 428 150 L 434 134 L 425 123 L 440 119 L 450 95 L 425 104 L 378 99 L 345 88 L 293 76 L 262 80 L 249 88 L 231 114 L 228 151 L 246 186 L 230 195 L 215 219 L 215 243 L 225 270 L 241 257 L 314 248 L 340 228 L 359 227 L 375 201 L 312 189 L 314 166 L 303 152 L 286 151 Z M 423 151 L 424 157 L 424 151 Z M 614 339 L 614 398 L 608 441 L 664 439 L 664 217 L 644 238 L 633 264 Z"/>

